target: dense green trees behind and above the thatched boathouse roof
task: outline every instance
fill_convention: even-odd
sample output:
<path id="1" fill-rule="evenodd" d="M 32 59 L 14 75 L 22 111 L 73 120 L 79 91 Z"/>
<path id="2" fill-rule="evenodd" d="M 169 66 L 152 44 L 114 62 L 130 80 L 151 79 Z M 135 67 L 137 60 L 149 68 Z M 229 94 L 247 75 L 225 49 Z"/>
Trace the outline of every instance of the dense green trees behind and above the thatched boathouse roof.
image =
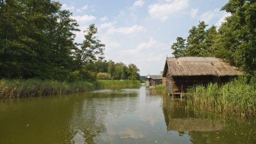
<path id="1" fill-rule="evenodd" d="M 250 76 L 256 74 L 256 1 L 230 0 L 222 11 L 231 16 L 217 28 L 204 21 L 189 30 L 187 38 L 177 37 L 171 49 L 175 57 L 217 57 Z M 207 28 L 207 29 L 206 29 Z"/>

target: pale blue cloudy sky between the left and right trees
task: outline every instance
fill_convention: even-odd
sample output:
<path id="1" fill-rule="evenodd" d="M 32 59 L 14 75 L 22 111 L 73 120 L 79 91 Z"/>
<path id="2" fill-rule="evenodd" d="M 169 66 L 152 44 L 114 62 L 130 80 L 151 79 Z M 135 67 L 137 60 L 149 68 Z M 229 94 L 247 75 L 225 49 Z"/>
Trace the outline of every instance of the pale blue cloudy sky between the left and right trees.
<path id="1" fill-rule="evenodd" d="M 59 0 L 79 24 L 76 42 L 95 23 L 98 39 L 105 44 L 105 59 L 134 63 L 140 75 L 159 74 L 171 45 L 199 21 L 219 27 L 230 15 L 220 11 L 228 0 Z"/>

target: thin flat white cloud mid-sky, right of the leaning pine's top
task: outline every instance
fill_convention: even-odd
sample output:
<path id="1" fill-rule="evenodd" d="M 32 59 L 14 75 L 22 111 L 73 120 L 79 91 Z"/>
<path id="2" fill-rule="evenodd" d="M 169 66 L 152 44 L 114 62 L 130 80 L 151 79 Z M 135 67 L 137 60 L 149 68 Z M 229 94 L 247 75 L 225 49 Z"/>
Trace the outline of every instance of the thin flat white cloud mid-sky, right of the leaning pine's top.
<path id="1" fill-rule="evenodd" d="M 125 35 L 132 35 L 142 31 L 143 29 L 144 28 L 142 26 L 137 26 L 137 25 L 134 25 L 132 27 L 119 27 L 119 28 L 111 27 L 108 29 L 108 34 L 120 33 Z"/>

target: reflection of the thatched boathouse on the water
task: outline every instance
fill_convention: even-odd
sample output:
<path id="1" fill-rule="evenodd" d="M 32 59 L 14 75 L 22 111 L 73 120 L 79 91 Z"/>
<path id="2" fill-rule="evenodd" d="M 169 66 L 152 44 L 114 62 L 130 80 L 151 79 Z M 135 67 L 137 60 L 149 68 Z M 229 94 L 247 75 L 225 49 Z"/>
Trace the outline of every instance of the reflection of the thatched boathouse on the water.
<path id="1" fill-rule="evenodd" d="M 193 111 L 186 111 L 186 101 L 163 97 L 163 113 L 167 131 L 220 131 L 223 124 L 219 120 L 195 118 Z"/>

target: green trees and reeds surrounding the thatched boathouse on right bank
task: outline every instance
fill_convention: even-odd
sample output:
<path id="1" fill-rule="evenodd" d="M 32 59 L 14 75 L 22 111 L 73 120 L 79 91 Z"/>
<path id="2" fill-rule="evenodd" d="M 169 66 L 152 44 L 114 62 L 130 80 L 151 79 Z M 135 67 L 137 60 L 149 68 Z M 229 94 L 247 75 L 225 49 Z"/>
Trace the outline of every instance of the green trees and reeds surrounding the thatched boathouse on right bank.
<path id="1" fill-rule="evenodd" d="M 220 115 L 256 116 L 255 8 L 255 1 L 229 0 L 221 10 L 230 15 L 221 26 L 207 27 L 200 21 L 189 30 L 187 38 L 177 37 L 177 42 L 171 46 L 175 57 L 217 57 L 245 74 L 221 86 L 191 87 L 189 108 Z"/>

